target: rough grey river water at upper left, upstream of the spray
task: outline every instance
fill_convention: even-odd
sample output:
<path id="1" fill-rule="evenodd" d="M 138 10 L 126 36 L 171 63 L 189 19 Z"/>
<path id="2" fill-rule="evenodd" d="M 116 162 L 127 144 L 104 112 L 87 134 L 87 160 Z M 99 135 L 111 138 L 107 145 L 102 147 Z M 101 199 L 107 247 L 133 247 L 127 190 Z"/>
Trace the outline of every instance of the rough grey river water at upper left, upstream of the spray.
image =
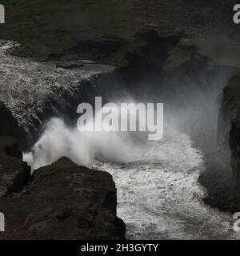
<path id="1" fill-rule="evenodd" d="M 66 69 L 59 67 L 62 66 L 60 62 L 39 62 L 14 56 L 21 53 L 20 44 L 0 39 L 0 100 L 5 102 L 26 133 L 30 133 L 30 126 L 37 130 L 35 124 L 42 123 L 39 116 L 50 103 L 66 108 L 71 103 L 68 101 L 78 98 L 82 82 L 89 81 L 91 85 L 95 76 L 113 69 L 87 61 L 80 62 L 82 67 Z"/>

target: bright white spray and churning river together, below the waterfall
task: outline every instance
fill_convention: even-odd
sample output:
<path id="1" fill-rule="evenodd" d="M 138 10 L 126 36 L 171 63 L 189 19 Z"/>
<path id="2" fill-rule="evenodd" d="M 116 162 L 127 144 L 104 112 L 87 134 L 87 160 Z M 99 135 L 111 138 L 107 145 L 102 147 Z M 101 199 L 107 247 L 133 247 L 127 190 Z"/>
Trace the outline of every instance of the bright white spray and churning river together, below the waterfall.
<path id="1" fill-rule="evenodd" d="M 240 238 L 232 230 L 230 214 L 202 202 L 202 152 L 192 147 L 186 134 L 168 127 L 161 141 L 142 142 L 127 134 L 81 134 L 54 118 L 24 157 L 36 168 L 62 155 L 113 175 L 118 216 L 126 223 L 127 238 Z"/>

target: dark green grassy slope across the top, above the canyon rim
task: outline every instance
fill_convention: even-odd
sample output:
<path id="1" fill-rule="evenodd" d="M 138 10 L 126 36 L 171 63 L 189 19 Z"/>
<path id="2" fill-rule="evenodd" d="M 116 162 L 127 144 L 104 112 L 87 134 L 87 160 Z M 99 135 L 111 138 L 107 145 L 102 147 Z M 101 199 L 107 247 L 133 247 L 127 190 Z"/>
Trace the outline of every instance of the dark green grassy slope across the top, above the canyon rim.
<path id="1" fill-rule="evenodd" d="M 134 34 L 143 27 L 154 28 L 163 35 L 184 30 L 194 38 L 199 35 L 203 38 L 204 34 L 212 37 L 213 33 L 220 37 L 234 34 L 230 30 L 238 29 L 232 22 L 231 2 L 1 0 L 6 6 L 6 24 L 0 26 L 0 38 L 21 42 L 34 53 L 48 55 L 61 53 L 79 40 L 98 42 L 103 40 L 103 36 L 111 36 L 124 40 L 120 53 L 124 54 L 126 50 L 135 48 Z M 201 52 L 216 58 L 212 50 L 215 49 L 215 43 L 194 42 Z M 218 49 L 219 52 L 222 50 Z"/>

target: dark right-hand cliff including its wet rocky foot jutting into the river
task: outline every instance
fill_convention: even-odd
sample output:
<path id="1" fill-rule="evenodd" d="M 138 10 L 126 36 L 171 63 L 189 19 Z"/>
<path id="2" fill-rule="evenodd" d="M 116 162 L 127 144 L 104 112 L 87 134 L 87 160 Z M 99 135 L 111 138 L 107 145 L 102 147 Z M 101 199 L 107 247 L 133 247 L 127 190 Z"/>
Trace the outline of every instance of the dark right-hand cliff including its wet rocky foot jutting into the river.
<path id="1" fill-rule="evenodd" d="M 235 70 L 226 82 L 218 113 L 218 150 L 206 155 L 206 166 L 210 171 L 200 178 L 209 194 L 204 201 L 231 213 L 240 209 L 239 78 L 239 71 Z"/>

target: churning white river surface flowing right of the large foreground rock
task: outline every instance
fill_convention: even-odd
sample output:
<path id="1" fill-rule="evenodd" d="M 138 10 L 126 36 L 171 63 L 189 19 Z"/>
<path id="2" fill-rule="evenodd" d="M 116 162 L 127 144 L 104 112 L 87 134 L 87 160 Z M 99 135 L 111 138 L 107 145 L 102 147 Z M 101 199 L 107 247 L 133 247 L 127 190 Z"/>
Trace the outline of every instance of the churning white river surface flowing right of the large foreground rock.
<path id="1" fill-rule="evenodd" d="M 130 239 L 232 239 L 230 214 L 206 206 L 198 183 L 202 153 L 186 134 L 172 131 L 160 142 L 135 148 L 134 160 L 94 162 L 113 174 L 118 189 L 118 216 Z"/>

